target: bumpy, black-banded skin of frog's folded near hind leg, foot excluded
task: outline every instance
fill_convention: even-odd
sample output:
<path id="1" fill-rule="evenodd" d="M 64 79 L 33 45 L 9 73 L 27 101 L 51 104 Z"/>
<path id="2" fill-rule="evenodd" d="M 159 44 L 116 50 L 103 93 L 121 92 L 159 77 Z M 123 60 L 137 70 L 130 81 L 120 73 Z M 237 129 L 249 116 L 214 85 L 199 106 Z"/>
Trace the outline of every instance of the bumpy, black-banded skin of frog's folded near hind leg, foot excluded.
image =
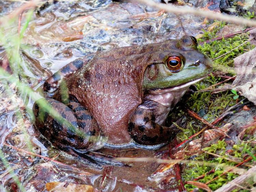
<path id="1" fill-rule="evenodd" d="M 40 132 L 48 138 L 56 147 L 60 148 L 59 143 L 64 146 L 70 146 L 76 149 L 90 148 L 95 142 L 90 143 L 90 136 L 99 137 L 100 130 L 97 122 L 91 116 L 90 112 L 79 103 L 69 101 L 67 105 L 54 99 L 47 100 L 63 119 L 66 119 L 73 125 L 74 128 L 79 128 L 84 136 L 77 135 L 72 129 L 63 126 L 57 120 L 53 119 L 48 113 L 45 113 L 42 108 L 39 108 L 35 103 L 33 111 L 35 115 L 35 124 L 40 128 Z M 68 148 L 61 146 L 64 151 L 69 151 Z"/>

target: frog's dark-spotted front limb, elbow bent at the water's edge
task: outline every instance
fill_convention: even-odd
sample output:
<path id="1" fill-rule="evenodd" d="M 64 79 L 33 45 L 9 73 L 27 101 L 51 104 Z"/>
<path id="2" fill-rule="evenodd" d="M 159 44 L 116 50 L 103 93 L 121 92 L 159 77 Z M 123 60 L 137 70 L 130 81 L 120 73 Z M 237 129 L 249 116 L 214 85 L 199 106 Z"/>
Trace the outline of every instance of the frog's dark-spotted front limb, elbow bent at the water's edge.
<path id="1" fill-rule="evenodd" d="M 144 145 L 157 145 L 166 143 L 174 137 L 174 131 L 156 122 L 153 109 L 147 109 L 142 104 L 138 106 L 129 121 L 131 138 Z"/>

